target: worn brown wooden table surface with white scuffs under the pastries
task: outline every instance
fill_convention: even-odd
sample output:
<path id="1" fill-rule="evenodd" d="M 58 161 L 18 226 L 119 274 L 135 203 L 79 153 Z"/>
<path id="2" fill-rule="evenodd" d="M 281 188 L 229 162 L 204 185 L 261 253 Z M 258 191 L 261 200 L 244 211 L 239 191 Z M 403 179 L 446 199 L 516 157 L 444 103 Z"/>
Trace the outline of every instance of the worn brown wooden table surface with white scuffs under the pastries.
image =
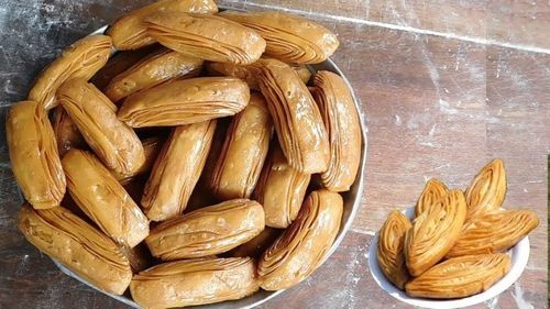
<path id="1" fill-rule="evenodd" d="M 146 2 L 2 1 L 1 121 L 63 47 Z M 365 195 L 352 231 L 312 277 L 262 308 L 408 308 L 370 275 L 374 232 L 392 209 L 414 205 L 428 178 L 464 188 L 494 157 L 506 164 L 504 206 L 535 210 L 540 225 L 520 279 L 474 308 L 547 308 L 550 2 L 219 2 L 298 13 L 338 33 L 333 59 L 355 88 L 369 126 Z M 16 231 L 22 199 L 6 134 L 0 139 L 0 308 L 125 308 L 63 275 Z"/>

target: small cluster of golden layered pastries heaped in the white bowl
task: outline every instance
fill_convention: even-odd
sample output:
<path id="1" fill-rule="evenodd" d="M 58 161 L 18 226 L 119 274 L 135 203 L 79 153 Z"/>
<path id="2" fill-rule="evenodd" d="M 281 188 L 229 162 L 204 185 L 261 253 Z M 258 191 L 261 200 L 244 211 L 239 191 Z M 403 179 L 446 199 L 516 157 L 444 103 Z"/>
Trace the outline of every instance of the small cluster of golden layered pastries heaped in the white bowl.
<path id="1" fill-rule="evenodd" d="M 378 233 L 378 266 L 411 297 L 462 298 L 506 275 L 506 251 L 539 224 L 531 210 L 503 210 L 506 173 L 493 159 L 465 192 L 430 179 L 413 222 L 394 210 Z"/>

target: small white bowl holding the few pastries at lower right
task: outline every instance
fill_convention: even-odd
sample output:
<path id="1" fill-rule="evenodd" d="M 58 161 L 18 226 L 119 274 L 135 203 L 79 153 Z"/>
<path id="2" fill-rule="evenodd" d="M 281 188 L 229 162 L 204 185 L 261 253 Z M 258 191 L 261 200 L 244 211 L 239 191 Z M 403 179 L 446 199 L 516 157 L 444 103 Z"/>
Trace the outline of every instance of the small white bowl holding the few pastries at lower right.
<path id="1" fill-rule="evenodd" d="M 410 207 L 404 211 L 405 216 L 409 219 L 414 218 L 415 208 Z M 407 294 L 398 288 L 396 288 L 382 273 L 382 269 L 378 267 L 378 260 L 376 258 L 376 253 L 378 250 L 378 234 L 380 231 L 374 235 L 374 239 L 371 243 L 371 247 L 369 249 L 369 268 L 371 269 L 371 274 L 373 275 L 374 280 L 378 284 L 378 286 L 385 290 L 391 296 L 399 299 L 400 301 L 407 302 L 413 306 L 422 307 L 422 308 L 433 308 L 433 309 L 452 309 L 452 308 L 463 308 L 468 306 L 472 306 L 475 304 L 480 304 L 486 300 L 492 299 L 493 297 L 499 295 L 504 290 L 506 290 L 509 286 L 512 286 L 521 275 L 525 267 L 527 266 L 527 261 L 529 260 L 529 239 L 526 236 L 519 243 L 517 243 L 514 247 L 508 251 L 508 254 L 512 257 L 510 271 L 506 276 L 504 276 L 501 280 L 495 283 L 491 288 L 486 291 L 473 295 L 465 298 L 460 299 L 450 299 L 450 300 L 438 300 L 438 299 L 427 299 L 427 298 L 415 298 L 409 297 Z"/>

